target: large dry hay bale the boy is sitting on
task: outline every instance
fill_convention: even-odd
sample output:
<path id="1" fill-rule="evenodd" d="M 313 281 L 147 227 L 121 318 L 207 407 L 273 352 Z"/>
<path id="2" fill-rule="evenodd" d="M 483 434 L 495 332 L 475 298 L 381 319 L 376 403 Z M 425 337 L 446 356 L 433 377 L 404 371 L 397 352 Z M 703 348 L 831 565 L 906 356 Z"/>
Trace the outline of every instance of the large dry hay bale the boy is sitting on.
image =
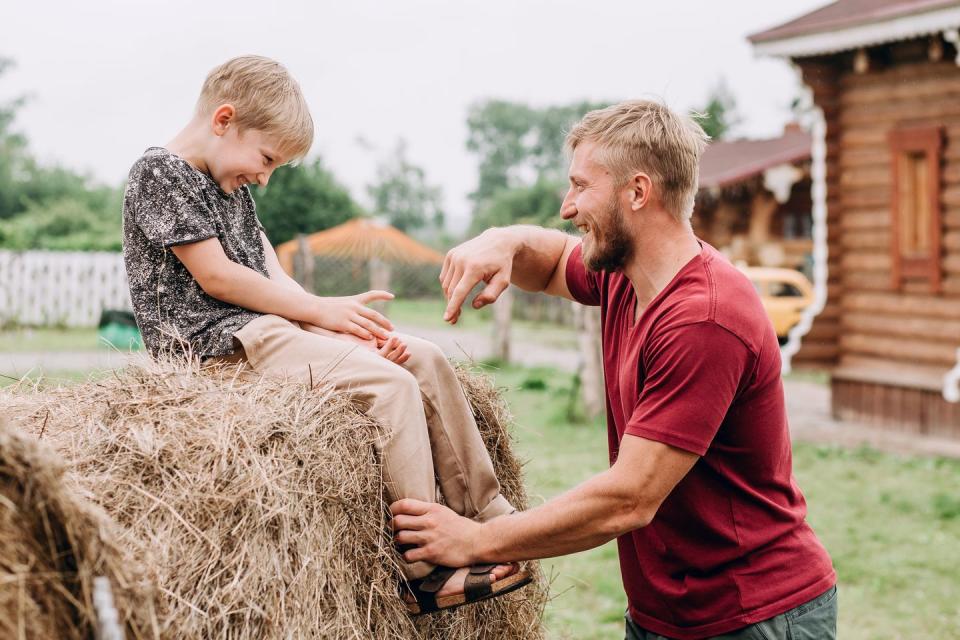
<path id="1" fill-rule="evenodd" d="M 488 380 L 461 375 L 504 493 L 524 507 L 506 410 Z M 132 637 L 542 637 L 542 579 L 411 620 L 384 528 L 378 427 L 344 394 L 143 362 L 71 387 L 15 388 L 0 411 L 45 430 L 141 559 L 157 591 L 135 608 L 154 607 L 157 626 Z M 118 598 L 121 619 L 133 604 Z"/>

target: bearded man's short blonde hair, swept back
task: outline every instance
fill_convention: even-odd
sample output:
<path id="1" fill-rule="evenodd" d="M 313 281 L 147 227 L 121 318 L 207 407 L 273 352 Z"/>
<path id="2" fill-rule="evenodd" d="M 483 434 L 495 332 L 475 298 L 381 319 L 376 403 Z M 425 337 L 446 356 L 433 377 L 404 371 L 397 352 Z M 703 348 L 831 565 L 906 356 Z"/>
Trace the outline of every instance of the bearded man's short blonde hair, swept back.
<path id="1" fill-rule="evenodd" d="M 583 116 L 567 134 L 572 153 L 597 145 L 596 160 L 623 186 L 637 171 L 653 181 L 664 209 L 680 221 L 693 214 L 700 156 L 710 140 L 699 124 L 654 100 L 628 100 Z"/>

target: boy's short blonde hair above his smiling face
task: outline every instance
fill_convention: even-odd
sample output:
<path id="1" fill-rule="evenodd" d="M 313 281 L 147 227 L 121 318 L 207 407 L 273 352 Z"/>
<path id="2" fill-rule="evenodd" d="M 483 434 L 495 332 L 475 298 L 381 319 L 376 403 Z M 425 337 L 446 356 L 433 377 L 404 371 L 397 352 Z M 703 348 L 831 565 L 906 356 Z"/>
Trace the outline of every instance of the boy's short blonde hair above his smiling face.
<path id="1" fill-rule="evenodd" d="M 238 132 L 256 129 L 273 137 L 288 161 L 303 158 L 313 144 L 313 118 L 300 85 L 276 60 L 240 56 L 211 71 L 197 113 L 213 113 L 222 104 L 237 110 Z"/>

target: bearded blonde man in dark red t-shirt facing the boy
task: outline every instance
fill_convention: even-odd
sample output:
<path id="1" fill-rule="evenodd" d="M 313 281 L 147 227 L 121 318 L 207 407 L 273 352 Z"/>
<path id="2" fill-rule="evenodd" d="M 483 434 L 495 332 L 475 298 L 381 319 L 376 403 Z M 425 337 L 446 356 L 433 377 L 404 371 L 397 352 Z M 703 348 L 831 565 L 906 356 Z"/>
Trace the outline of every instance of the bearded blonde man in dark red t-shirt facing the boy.
<path id="1" fill-rule="evenodd" d="M 627 638 L 834 638 L 836 576 L 805 522 L 773 327 L 745 276 L 690 226 L 706 136 L 652 101 L 570 132 L 558 231 L 490 229 L 448 253 L 455 323 L 513 283 L 599 305 L 610 469 L 485 523 L 392 505 L 404 555 L 448 566 L 574 553 L 617 538 Z"/>

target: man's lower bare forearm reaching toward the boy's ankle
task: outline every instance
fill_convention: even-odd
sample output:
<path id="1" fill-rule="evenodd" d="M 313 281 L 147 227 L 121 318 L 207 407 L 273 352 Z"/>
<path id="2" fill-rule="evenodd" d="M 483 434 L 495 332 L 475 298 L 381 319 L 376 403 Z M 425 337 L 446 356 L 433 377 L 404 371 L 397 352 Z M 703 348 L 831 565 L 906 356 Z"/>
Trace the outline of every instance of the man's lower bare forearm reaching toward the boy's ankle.
<path id="1" fill-rule="evenodd" d="M 476 560 L 531 560 L 592 549 L 646 526 L 655 511 L 625 491 L 611 469 L 535 509 L 484 523 L 474 548 Z"/>

